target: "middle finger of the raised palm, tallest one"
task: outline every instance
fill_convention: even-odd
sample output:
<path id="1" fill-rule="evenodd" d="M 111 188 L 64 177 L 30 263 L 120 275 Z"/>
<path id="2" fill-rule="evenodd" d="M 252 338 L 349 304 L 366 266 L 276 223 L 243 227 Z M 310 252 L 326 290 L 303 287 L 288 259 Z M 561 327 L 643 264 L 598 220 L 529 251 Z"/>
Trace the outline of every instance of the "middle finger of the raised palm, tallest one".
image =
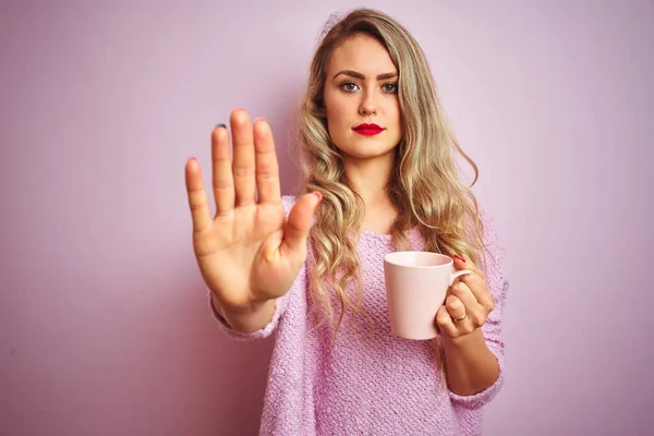
<path id="1" fill-rule="evenodd" d="M 232 172 L 234 179 L 235 206 L 247 206 L 254 203 L 254 140 L 250 117 L 244 110 L 237 109 L 230 117 L 234 160 Z"/>

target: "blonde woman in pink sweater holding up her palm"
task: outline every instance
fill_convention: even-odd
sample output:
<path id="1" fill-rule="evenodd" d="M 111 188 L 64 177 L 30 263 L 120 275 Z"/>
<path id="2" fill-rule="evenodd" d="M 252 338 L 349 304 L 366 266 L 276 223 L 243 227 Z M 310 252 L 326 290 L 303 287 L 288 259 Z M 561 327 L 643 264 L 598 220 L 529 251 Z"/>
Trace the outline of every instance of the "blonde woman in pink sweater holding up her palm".
<path id="1" fill-rule="evenodd" d="M 198 162 L 186 164 L 193 244 L 220 325 L 237 339 L 277 331 L 261 433 L 481 433 L 504 380 L 508 281 L 455 154 L 476 167 L 417 43 L 378 11 L 346 15 L 316 50 L 299 124 L 298 198 L 280 195 L 269 125 L 240 109 L 233 161 L 227 128 L 211 135 L 215 217 Z M 437 340 L 390 332 L 383 257 L 402 247 L 475 271 L 434 314 Z"/>

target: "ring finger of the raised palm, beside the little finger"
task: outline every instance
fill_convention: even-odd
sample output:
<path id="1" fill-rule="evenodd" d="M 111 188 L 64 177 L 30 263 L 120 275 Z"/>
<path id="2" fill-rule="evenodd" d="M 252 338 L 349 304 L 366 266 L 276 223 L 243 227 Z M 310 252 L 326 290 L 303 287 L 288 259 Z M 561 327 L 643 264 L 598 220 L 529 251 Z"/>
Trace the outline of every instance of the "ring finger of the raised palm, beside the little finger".
<path id="1" fill-rule="evenodd" d="M 211 133 L 211 182 L 216 215 L 227 215 L 234 208 L 234 178 L 229 156 L 229 133 L 225 124 Z"/>

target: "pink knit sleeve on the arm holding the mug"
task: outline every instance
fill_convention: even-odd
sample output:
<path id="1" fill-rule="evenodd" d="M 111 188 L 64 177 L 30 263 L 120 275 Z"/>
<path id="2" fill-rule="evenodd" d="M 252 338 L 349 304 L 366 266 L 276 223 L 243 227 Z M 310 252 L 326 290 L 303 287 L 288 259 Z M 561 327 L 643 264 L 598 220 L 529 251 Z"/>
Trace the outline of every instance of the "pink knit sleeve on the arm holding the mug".
<path id="1" fill-rule="evenodd" d="M 479 393 L 460 396 L 450 390 L 452 403 L 465 409 L 480 409 L 488 403 L 499 392 L 505 380 L 505 343 L 501 338 L 501 318 L 507 302 L 509 280 L 505 270 L 505 253 L 498 245 L 495 222 L 485 207 L 481 208 L 481 218 L 484 225 L 484 244 L 487 249 L 483 257 L 486 282 L 495 300 L 495 306 L 482 326 L 482 332 L 486 339 L 486 346 L 497 358 L 499 375 L 493 385 Z"/>

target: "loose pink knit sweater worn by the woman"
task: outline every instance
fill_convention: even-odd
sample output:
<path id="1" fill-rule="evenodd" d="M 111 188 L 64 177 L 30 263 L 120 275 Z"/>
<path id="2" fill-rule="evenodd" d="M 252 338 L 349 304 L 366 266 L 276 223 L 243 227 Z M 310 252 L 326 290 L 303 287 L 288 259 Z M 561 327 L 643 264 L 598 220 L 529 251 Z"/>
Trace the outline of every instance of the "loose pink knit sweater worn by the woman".
<path id="1" fill-rule="evenodd" d="M 284 196 L 282 202 L 288 214 L 294 197 Z M 483 407 L 504 382 L 500 322 L 508 288 L 493 223 L 487 214 L 483 219 L 491 249 L 487 280 L 496 301 L 483 326 L 488 348 L 499 362 L 499 377 L 494 385 L 473 396 L 456 395 L 438 373 L 433 341 L 407 340 L 391 334 L 383 265 L 384 255 L 392 251 L 390 237 L 364 230 L 358 252 L 364 280 L 363 307 L 373 317 L 374 330 L 363 316 L 346 317 L 330 349 L 327 329 L 315 329 L 307 323 L 311 304 L 306 267 L 291 290 L 277 300 L 275 315 L 265 328 L 241 334 L 218 317 L 223 331 L 238 340 L 277 334 L 261 434 L 481 434 Z M 410 232 L 409 239 L 414 249 L 424 246 L 416 231 Z"/>

